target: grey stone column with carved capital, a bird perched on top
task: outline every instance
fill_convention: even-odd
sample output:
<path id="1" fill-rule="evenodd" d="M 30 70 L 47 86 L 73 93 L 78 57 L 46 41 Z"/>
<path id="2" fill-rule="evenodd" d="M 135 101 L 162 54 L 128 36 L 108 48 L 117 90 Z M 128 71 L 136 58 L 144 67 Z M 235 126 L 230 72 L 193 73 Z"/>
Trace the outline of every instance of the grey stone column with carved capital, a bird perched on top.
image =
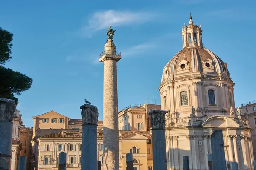
<path id="1" fill-rule="evenodd" d="M 91 104 L 84 104 L 80 109 L 82 109 L 83 118 L 81 170 L 97 170 L 98 108 Z"/>

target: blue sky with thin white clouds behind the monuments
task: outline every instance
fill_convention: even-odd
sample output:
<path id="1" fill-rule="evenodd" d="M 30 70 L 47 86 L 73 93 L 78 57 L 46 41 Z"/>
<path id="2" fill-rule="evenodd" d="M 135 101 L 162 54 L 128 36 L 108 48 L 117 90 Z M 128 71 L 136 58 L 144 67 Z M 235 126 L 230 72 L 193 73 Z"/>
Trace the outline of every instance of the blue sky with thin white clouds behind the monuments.
<path id="1" fill-rule="evenodd" d="M 93 2 L 93 3 L 92 3 Z M 14 34 L 6 64 L 34 82 L 18 96 L 23 124 L 54 110 L 81 118 L 87 98 L 103 119 L 103 63 L 109 25 L 122 52 L 118 62 L 119 110 L 160 104 L 163 67 L 182 49 L 181 26 L 203 29 L 203 43 L 224 62 L 235 85 L 236 106 L 256 99 L 255 0 L 9 0 L 0 1 L 0 26 Z"/>

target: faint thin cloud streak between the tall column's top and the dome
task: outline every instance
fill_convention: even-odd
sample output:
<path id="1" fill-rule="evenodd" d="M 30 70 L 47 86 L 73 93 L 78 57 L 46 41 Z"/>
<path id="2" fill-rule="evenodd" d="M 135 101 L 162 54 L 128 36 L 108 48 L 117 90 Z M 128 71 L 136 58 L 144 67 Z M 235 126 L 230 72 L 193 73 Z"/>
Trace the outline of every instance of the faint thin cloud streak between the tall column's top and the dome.
<path id="1" fill-rule="evenodd" d="M 132 55 L 140 55 L 145 53 L 147 50 L 154 48 L 154 44 L 143 43 L 136 46 L 128 47 L 126 50 L 123 50 L 122 57 L 131 57 Z"/>

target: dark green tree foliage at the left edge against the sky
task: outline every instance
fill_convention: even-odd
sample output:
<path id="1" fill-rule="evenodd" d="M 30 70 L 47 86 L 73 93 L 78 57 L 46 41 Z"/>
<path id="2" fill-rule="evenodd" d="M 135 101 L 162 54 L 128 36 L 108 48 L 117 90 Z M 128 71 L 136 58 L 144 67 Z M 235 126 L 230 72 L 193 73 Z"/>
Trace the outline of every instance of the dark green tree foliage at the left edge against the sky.
<path id="1" fill-rule="evenodd" d="M 0 27 L 0 98 L 18 99 L 14 95 L 21 95 L 21 92 L 28 90 L 33 80 L 20 72 L 5 68 L 6 61 L 10 61 L 13 34 Z"/>

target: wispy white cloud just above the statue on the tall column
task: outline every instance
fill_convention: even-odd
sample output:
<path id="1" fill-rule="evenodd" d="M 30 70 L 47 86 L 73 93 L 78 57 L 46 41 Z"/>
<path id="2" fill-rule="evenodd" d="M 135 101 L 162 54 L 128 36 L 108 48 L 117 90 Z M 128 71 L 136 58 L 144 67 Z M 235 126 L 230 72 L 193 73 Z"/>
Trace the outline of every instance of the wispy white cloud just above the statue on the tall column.
<path id="1" fill-rule="evenodd" d="M 156 14 L 149 12 L 131 12 L 131 11 L 115 11 L 107 10 L 103 12 L 95 12 L 88 20 L 86 26 L 83 26 L 79 35 L 83 37 L 92 37 L 93 33 L 107 29 L 110 25 L 112 26 L 124 26 L 134 23 L 145 23 L 153 20 Z"/>

